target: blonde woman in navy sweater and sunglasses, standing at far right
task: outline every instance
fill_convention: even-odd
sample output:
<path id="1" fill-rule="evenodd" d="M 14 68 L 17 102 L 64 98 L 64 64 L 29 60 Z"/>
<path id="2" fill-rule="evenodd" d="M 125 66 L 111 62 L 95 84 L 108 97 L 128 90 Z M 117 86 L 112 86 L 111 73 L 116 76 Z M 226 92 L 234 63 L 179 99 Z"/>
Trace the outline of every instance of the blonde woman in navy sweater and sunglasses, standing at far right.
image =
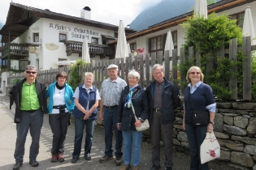
<path id="1" fill-rule="evenodd" d="M 214 128 L 216 103 L 211 87 L 202 83 L 202 70 L 198 66 L 192 66 L 188 70 L 186 79 L 189 83 L 184 92 L 184 118 L 183 129 L 186 130 L 190 148 L 190 170 L 209 170 L 208 163 L 201 164 L 200 147 L 206 138 L 206 132 Z M 193 110 L 206 110 L 210 113 L 209 124 L 206 126 L 194 126 L 192 124 Z"/>

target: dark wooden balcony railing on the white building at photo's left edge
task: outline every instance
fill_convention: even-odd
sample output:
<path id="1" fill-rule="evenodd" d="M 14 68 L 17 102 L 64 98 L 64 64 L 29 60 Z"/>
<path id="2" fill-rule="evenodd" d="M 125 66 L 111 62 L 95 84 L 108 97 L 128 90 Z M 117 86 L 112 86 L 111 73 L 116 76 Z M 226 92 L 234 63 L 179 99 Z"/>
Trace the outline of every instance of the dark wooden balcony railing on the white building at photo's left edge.
<path id="1" fill-rule="evenodd" d="M 20 57 L 28 56 L 28 45 L 20 45 L 16 43 L 7 43 L 1 49 L 1 58 L 8 57 L 9 53 L 11 58 L 19 59 Z"/>

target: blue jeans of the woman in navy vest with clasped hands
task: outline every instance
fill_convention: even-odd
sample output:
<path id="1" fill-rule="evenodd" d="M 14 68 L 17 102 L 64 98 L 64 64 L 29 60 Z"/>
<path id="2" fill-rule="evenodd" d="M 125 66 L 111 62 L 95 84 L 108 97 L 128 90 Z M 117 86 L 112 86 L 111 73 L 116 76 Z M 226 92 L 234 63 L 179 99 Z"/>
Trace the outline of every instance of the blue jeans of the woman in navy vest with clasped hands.
<path id="1" fill-rule="evenodd" d="M 75 117 L 75 141 L 74 141 L 74 151 L 72 156 L 77 158 L 80 156 L 80 152 L 81 152 L 85 125 L 86 125 L 85 155 L 90 155 L 92 144 L 93 144 L 95 120 L 82 120 L 82 118 L 84 117 L 81 117 L 81 118 Z"/>

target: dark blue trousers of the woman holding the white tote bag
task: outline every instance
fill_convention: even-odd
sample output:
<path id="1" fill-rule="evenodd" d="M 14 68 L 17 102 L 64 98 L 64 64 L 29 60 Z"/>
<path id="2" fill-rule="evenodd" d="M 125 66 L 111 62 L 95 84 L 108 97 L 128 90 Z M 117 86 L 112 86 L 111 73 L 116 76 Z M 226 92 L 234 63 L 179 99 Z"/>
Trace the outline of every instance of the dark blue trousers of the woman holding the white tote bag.
<path id="1" fill-rule="evenodd" d="M 208 163 L 201 164 L 200 147 L 206 138 L 207 126 L 185 124 L 190 148 L 190 170 L 209 170 Z"/>

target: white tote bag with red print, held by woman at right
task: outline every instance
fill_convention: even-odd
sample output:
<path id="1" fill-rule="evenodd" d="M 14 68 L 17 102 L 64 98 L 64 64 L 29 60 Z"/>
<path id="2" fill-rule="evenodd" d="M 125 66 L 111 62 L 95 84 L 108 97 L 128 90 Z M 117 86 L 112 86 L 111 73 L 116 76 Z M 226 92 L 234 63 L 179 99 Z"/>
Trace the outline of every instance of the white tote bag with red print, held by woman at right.
<path id="1" fill-rule="evenodd" d="M 220 146 L 214 132 L 206 133 L 206 138 L 200 147 L 201 164 L 220 157 Z"/>

